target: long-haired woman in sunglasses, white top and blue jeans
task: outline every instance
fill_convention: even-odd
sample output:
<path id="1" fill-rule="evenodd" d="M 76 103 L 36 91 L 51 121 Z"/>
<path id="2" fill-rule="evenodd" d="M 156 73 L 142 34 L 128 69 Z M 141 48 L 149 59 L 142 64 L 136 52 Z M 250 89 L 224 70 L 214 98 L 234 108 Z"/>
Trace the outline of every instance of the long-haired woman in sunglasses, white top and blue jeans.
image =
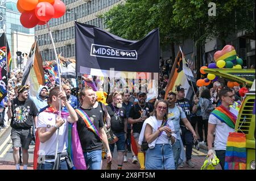
<path id="1" fill-rule="evenodd" d="M 144 138 L 148 143 L 146 151 L 145 165 L 146 170 L 174 170 L 174 154 L 172 144 L 175 143 L 176 134 L 174 124 L 167 120 L 168 102 L 159 100 L 155 103 L 155 110 L 152 116 L 148 117 L 143 123 L 142 131 L 139 136 L 139 144 Z"/>

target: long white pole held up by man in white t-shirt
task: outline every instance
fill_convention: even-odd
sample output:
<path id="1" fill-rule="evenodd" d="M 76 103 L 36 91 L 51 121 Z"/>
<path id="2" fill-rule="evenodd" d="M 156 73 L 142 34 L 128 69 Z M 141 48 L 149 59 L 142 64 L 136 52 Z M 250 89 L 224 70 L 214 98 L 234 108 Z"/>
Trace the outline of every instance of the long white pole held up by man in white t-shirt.
<path id="1" fill-rule="evenodd" d="M 52 32 L 51 32 L 51 30 L 49 28 L 48 22 L 46 23 L 46 25 L 47 25 L 47 28 L 48 28 L 48 31 L 49 31 L 49 36 L 51 37 L 51 41 L 52 41 L 52 45 L 53 45 L 53 51 L 55 53 L 55 58 L 56 58 L 56 62 L 57 62 L 57 70 L 58 70 L 58 73 L 59 73 L 60 91 L 61 91 L 62 89 L 61 89 L 61 76 L 60 76 L 59 57 L 57 56 L 55 44 L 54 44 L 53 37 L 52 37 Z M 61 116 L 61 99 L 60 99 L 60 103 L 59 103 L 59 117 L 60 116 Z M 58 152 L 58 146 L 59 146 L 59 132 L 60 132 L 60 129 L 58 128 L 57 129 L 57 144 L 56 144 L 56 151 L 55 151 L 55 162 L 56 162 L 57 154 L 58 154 L 57 152 Z"/>

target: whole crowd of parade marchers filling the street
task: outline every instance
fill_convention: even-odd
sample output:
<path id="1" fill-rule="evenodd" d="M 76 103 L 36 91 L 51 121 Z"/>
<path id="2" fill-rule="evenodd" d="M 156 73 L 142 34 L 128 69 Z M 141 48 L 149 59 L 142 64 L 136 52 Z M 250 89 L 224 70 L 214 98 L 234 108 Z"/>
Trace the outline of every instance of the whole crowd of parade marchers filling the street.
<path id="1" fill-rule="evenodd" d="M 123 162 L 127 162 L 127 152 L 132 152 L 133 163 L 139 163 L 141 170 L 174 170 L 185 165 L 192 168 L 195 167 L 192 148 L 200 144 L 208 146 L 209 157 L 217 155 L 223 169 L 225 144 L 234 127 L 222 117 L 228 113 L 230 119 L 236 119 L 242 99 L 238 93 L 240 87 L 229 89 L 216 81 L 212 88 L 199 87 L 191 102 L 185 98 L 184 88 L 176 85 L 176 91 L 168 92 L 164 100 L 171 67 L 169 62 L 166 64 L 161 70 L 158 98 L 148 102 L 147 92 L 115 91 L 109 95 L 106 105 L 97 102 L 92 87 L 82 88 L 80 84 L 75 88 L 68 79 L 62 79 L 62 91 L 50 83 L 49 87 L 40 86 L 38 94 L 31 96 L 29 86 L 21 85 L 22 73 L 11 73 L 9 92 L 0 107 L 0 128 L 5 129 L 11 120 L 16 169 L 20 169 L 20 152 L 23 169 L 27 169 L 28 148 L 35 141 L 35 132 L 40 140 L 39 155 L 45 159 L 38 163 L 37 169 L 72 169 L 68 153 L 69 124 L 76 125 L 86 168 L 90 170 L 112 169 L 115 145 L 120 170 Z M 110 133 L 112 138 L 117 138 L 114 142 L 109 142 Z M 132 149 L 131 136 L 136 151 Z M 107 162 L 105 168 L 102 168 L 103 158 Z"/>

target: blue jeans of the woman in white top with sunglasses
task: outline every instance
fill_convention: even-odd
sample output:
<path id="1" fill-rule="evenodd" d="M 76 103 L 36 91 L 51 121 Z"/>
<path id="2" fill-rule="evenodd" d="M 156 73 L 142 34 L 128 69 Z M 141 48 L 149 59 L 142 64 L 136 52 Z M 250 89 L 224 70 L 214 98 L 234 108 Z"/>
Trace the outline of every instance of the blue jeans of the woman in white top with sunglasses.
<path id="1" fill-rule="evenodd" d="M 174 170 L 174 154 L 170 144 L 156 144 L 146 151 L 146 170 Z"/>

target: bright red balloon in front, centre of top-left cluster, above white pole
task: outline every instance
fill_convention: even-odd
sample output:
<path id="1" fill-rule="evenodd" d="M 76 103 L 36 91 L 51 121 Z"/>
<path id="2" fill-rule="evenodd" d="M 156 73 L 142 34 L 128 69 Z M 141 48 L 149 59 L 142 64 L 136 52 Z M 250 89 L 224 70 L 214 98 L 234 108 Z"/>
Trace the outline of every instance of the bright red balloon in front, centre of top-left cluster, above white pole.
<path id="1" fill-rule="evenodd" d="M 35 15 L 39 20 L 47 22 L 54 15 L 54 8 L 51 3 L 48 2 L 39 2 L 35 8 Z"/>

